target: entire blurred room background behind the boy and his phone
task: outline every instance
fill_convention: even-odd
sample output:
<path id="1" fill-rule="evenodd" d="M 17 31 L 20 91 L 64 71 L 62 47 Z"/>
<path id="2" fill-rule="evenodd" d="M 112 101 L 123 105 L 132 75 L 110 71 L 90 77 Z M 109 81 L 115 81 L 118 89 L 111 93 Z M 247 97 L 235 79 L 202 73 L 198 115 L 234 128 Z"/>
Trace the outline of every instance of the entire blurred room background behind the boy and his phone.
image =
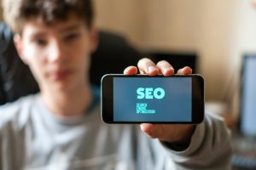
<path id="1" fill-rule="evenodd" d="M 256 169 L 253 74 L 256 70 L 256 1 L 92 0 L 92 3 L 97 46 L 91 53 L 89 82 L 100 89 L 103 75 L 123 74 L 126 67 L 137 66 L 143 58 L 154 63 L 166 60 L 175 73 L 189 66 L 192 74 L 204 78 L 205 110 L 223 118 L 231 133 L 231 169 Z M 17 57 L 15 34 L 3 20 L 3 8 L 0 13 L 0 105 L 4 105 L 38 93 L 41 86 L 38 87 L 30 68 Z M 100 90 L 98 93 L 100 95 Z M 0 137 L 0 153 L 1 138 L 4 136 Z M 0 156 L 0 169 L 2 163 Z M 84 164 L 81 161 L 77 165 Z"/>

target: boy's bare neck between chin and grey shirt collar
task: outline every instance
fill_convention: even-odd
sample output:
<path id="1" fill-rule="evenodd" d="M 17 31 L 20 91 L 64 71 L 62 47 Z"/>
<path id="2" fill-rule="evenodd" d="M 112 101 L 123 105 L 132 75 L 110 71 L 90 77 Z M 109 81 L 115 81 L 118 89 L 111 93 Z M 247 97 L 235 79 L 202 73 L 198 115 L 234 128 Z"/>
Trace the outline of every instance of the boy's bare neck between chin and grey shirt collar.
<path id="1" fill-rule="evenodd" d="M 90 86 L 73 90 L 42 90 L 45 105 L 56 116 L 82 116 L 88 110 L 92 100 Z"/>

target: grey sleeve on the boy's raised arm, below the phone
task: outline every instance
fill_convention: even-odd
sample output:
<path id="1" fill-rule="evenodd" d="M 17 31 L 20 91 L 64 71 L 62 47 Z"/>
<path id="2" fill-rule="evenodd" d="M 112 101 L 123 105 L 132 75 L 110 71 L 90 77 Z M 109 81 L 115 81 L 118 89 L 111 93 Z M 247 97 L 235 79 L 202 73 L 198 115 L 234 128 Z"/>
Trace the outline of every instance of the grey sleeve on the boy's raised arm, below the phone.
<path id="1" fill-rule="evenodd" d="M 164 147 L 176 169 L 231 169 L 230 130 L 221 117 L 211 113 L 206 113 L 204 122 L 197 125 L 186 150 Z"/>

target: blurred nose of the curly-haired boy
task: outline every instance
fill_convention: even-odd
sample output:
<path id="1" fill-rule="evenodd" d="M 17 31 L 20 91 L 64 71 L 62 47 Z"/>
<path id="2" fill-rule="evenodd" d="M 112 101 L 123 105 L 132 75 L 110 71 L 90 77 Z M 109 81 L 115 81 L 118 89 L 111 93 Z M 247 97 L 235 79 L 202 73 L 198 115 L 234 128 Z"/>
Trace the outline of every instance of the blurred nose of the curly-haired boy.
<path id="1" fill-rule="evenodd" d="M 60 41 L 52 41 L 49 46 L 49 62 L 63 62 L 65 60 L 64 48 Z"/>

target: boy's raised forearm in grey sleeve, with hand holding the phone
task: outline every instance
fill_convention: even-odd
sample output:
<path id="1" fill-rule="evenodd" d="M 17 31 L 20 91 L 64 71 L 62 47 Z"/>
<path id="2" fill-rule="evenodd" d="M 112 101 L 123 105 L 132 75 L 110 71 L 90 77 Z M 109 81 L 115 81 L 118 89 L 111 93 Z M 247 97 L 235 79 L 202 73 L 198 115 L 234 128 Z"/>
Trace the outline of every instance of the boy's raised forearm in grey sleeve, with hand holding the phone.
<path id="1" fill-rule="evenodd" d="M 160 61 L 157 65 L 150 59 L 138 62 L 140 73 L 154 76 L 163 74 L 172 76 L 172 65 Z M 191 74 L 189 67 L 177 71 L 177 74 Z M 126 75 L 137 74 L 136 67 L 125 69 Z M 205 120 L 199 125 L 141 124 L 141 130 L 152 139 L 159 139 L 168 150 L 175 166 L 181 169 L 229 169 L 230 133 L 218 116 L 206 113 Z"/>

